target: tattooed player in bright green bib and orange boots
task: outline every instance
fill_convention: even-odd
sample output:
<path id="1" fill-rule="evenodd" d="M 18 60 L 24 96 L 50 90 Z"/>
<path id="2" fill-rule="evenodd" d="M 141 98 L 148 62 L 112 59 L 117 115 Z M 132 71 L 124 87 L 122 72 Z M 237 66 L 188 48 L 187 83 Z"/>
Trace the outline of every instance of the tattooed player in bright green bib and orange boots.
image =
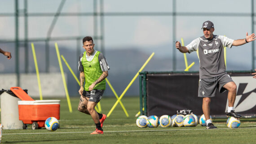
<path id="1" fill-rule="evenodd" d="M 106 77 L 110 69 L 106 58 L 97 50 L 94 50 L 93 38 L 86 36 L 83 39 L 85 52 L 79 56 L 80 70 L 80 101 L 78 110 L 91 115 L 96 125 L 96 130 L 91 134 L 103 134 L 102 126 L 106 115 L 97 113 L 94 109 L 101 100 L 106 89 Z M 84 84 L 85 82 L 85 84 Z"/>

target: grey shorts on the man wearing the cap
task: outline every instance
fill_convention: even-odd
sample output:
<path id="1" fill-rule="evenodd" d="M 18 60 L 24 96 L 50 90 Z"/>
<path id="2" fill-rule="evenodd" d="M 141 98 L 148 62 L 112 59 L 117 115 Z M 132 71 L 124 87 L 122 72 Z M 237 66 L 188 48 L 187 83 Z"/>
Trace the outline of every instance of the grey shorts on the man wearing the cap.
<path id="1" fill-rule="evenodd" d="M 226 83 L 233 82 L 230 75 L 223 74 L 214 78 L 199 79 L 198 96 L 213 97 L 216 94 L 216 89 L 222 93 L 226 89 L 223 87 Z"/>

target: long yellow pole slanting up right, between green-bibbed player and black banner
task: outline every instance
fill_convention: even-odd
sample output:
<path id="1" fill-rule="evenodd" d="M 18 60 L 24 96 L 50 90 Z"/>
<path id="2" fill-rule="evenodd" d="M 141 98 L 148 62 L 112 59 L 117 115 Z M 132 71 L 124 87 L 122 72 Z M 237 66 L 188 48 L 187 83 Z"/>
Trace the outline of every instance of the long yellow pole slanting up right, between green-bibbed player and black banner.
<path id="1" fill-rule="evenodd" d="M 128 88 L 132 85 L 132 83 L 134 82 L 134 80 L 137 78 L 137 76 L 139 75 L 139 72 L 141 72 L 144 67 L 147 65 L 147 63 L 150 61 L 150 59 L 154 56 L 154 52 L 150 55 L 150 57 L 147 59 L 147 61 L 144 63 L 144 65 L 142 65 L 141 69 L 137 72 L 137 74 L 134 76 L 134 78 L 132 79 L 132 81 L 128 84 L 128 86 L 125 88 L 124 92 L 121 94 L 121 96 L 118 98 L 118 100 L 115 102 L 115 105 L 113 105 L 113 107 L 110 109 L 109 113 L 107 114 L 107 117 L 110 116 L 110 114 L 113 112 L 113 110 L 115 109 L 116 105 L 118 104 L 118 102 L 123 98 L 124 94 L 127 92 Z"/>

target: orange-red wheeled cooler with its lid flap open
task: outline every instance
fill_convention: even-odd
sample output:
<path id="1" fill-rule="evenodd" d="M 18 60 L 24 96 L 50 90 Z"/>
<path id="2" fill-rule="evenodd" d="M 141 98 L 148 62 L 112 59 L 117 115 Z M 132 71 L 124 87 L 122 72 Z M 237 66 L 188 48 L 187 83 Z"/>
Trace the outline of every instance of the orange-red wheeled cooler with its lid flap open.
<path id="1" fill-rule="evenodd" d="M 19 120 L 32 124 L 32 129 L 44 127 L 44 122 L 49 117 L 60 119 L 60 100 L 33 100 L 20 87 L 11 87 L 11 91 L 21 100 L 18 101 Z"/>

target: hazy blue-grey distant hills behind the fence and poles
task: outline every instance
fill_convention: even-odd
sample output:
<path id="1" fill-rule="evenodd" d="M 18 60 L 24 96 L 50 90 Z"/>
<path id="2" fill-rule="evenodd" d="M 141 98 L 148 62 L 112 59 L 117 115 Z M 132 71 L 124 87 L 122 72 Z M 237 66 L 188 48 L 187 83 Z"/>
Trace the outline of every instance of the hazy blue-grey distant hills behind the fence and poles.
<path id="1" fill-rule="evenodd" d="M 5 57 L 0 56 L 0 73 L 15 73 L 15 52 L 14 52 L 14 44 L 3 44 L 0 48 L 4 50 L 8 50 L 12 52 L 13 58 L 11 60 L 7 60 Z M 62 54 L 66 61 L 71 66 L 71 69 L 75 72 L 77 77 L 79 78 L 78 72 L 78 54 L 74 50 L 74 48 L 66 48 L 62 45 L 59 45 L 60 54 Z M 37 56 L 37 62 L 39 66 L 40 72 L 45 72 L 45 47 L 41 44 L 35 44 L 35 52 Z M 81 49 L 83 52 L 83 49 Z M 172 54 L 170 48 L 167 46 L 161 46 L 160 48 L 148 48 L 147 51 L 141 50 L 140 48 L 121 48 L 121 49 L 108 49 L 106 48 L 106 52 L 104 53 L 108 64 L 110 65 L 109 76 L 107 77 L 114 87 L 115 91 L 118 95 L 124 91 L 124 89 L 128 86 L 128 83 L 132 80 L 132 78 L 137 74 L 138 70 L 141 66 L 146 62 L 148 57 L 152 52 L 155 52 L 154 57 L 149 61 L 143 71 L 172 71 Z M 24 61 L 25 54 L 24 48 L 20 48 L 19 50 L 19 69 L 20 73 L 24 73 Z M 170 53 L 170 54 L 169 54 Z M 193 61 L 195 65 L 192 66 L 190 71 L 198 71 L 199 70 L 199 60 L 196 54 L 187 54 L 188 57 L 188 65 L 190 65 Z M 54 45 L 50 47 L 50 72 L 59 72 L 59 64 L 57 61 L 56 51 Z M 79 85 L 71 75 L 70 71 L 66 67 L 65 63 L 62 62 L 64 71 L 68 75 L 68 91 L 71 96 L 78 96 Z M 185 62 L 182 53 L 177 52 L 177 70 L 184 70 Z M 228 70 L 237 70 L 237 63 L 232 63 L 230 61 L 228 65 Z M 240 70 L 247 70 L 245 65 L 239 65 Z M 33 55 L 31 52 L 31 47 L 29 48 L 29 72 L 35 73 L 35 65 L 33 60 Z M 59 85 L 62 87 L 62 83 Z M 106 86 L 105 96 L 113 96 L 113 92 L 110 87 Z M 125 94 L 126 96 L 137 96 L 139 95 L 139 80 L 138 78 L 134 81 L 132 86 L 128 89 Z"/>

